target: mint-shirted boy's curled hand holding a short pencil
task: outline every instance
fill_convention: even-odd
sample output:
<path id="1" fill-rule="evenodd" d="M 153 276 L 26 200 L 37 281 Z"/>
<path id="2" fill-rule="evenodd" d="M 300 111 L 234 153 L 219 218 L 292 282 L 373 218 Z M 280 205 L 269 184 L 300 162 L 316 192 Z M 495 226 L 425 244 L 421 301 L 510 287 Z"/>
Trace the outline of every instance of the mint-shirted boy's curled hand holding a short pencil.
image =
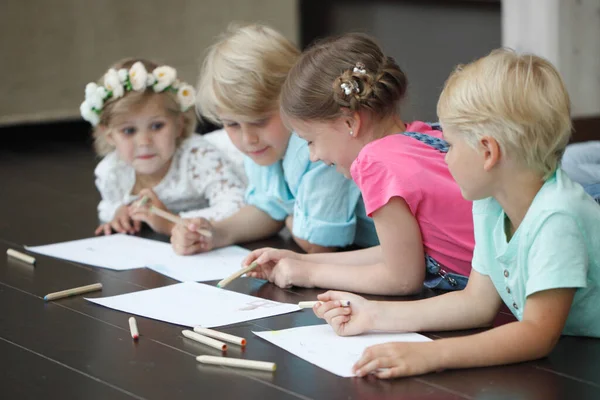
<path id="1" fill-rule="evenodd" d="M 313 311 L 325 319 L 340 336 L 359 335 L 372 329 L 375 303 L 352 293 L 328 291 L 317 296 Z M 340 300 L 348 300 L 349 307 L 342 307 Z"/>

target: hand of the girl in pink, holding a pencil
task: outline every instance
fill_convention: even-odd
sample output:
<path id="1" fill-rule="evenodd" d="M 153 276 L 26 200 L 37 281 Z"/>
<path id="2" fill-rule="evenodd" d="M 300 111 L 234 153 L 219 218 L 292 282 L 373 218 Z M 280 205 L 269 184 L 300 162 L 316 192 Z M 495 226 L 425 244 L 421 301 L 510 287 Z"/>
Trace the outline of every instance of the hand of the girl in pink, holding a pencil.
<path id="1" fill-rule="evenodd" d="M 288 251 L 273 250 L 282 252 Z M 290 253 L 295 256 L 299 255 L 291 251 Z M 250 258 L 250 256 L 248 256 L 248 258 Z M 267 261 L 264 264 L 259 262 L 258 264 L 259 266 L 256 269 L 247 274 L 248 276 L 265 279 L 280 288 L 288 288 L 291 286 L 312 287 L 312 284 L 310 283 L 311 266 L 309 263 L 293 258 L 281 258 L 278 261 Z"/>

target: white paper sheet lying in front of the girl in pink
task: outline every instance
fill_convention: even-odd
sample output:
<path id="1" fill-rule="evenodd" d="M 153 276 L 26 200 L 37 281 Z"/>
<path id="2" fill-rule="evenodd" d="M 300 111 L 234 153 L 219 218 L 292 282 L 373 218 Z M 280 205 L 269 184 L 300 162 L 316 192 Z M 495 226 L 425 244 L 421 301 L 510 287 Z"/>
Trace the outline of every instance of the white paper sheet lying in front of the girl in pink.
<path id="1" fill-rule="evenodd" d="M 130 314 L 205 328 L 300 310 L 296 304 L 265 300 L 196 282 L 86 300 Z"/>

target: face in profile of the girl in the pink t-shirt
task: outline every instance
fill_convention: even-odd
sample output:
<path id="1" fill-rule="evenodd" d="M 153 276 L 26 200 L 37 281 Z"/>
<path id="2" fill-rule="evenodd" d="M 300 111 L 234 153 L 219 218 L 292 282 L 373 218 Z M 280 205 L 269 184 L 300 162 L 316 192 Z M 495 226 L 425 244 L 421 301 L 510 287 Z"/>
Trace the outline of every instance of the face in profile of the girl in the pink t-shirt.
<path id="1" fill-rule="evenodd" d="M 294 132 L 308 142 L 310 160 L 335 165 L 336 170 L 351 178 L 350 167 L 358 156 L 357 143 L 350 135 L 345 117 L 332 121 L 290 120 Z"/>

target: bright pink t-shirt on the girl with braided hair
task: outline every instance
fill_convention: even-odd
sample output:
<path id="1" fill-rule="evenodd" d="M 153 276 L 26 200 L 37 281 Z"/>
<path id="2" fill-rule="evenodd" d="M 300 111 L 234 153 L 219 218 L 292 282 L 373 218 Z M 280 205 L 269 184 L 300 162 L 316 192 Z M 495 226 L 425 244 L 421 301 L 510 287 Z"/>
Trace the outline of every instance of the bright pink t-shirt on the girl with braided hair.
<path id="1" fill-rule="evenodd" d="M 440 131 L 419 121 L 406 131 L 442 138 Z M 446 271 L 469 276 L 475 246 L 472 204 L 462 197 L 444 156 L 415 138 L 389 135 L 366 145 L 350 173 L 369 216 L 392 197 L 402 197 L 417 219 L 425 253 Z"/>

